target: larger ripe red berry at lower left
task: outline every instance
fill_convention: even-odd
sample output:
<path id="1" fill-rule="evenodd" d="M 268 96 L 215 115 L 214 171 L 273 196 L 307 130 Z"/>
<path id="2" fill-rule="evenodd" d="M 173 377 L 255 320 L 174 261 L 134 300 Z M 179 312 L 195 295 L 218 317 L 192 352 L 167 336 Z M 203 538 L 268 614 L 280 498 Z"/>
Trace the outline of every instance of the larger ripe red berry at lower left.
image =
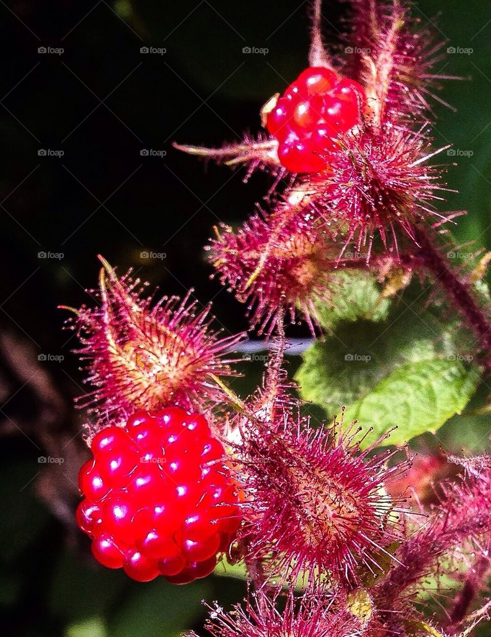
<path id="1" fill-rule="evenodd" d="M 209 575 L 240 522 L 223 445 L 205 418 L 176 407 L 137 412 L 97 433 L 91 448 L 76 520 L 95 559 L 139 582 Z"/>

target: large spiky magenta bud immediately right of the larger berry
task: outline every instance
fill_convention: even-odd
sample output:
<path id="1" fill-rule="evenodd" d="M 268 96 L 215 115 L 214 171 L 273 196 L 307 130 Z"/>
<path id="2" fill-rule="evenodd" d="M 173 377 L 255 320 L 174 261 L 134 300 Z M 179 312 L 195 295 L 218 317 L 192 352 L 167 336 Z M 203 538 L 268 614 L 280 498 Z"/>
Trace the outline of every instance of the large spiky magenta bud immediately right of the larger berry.
<path id="1" fill-rule="evenodd" d="M 337 427 L 313 429 L 288 413 L 244 427 L 240 533 L 246 561 L 262 561 L 268 575 L 288 582 L 303 575 L 312 585 L 329 573 L 354 582 L 361 566 L 380 571 L 377 555 L 400 537 L 401 500 L 386 487 L 407 463 L 388 467 L 394 452 L 371 456 L 373 447 L 361 450 L 356 440 L 359 429 Z"/>

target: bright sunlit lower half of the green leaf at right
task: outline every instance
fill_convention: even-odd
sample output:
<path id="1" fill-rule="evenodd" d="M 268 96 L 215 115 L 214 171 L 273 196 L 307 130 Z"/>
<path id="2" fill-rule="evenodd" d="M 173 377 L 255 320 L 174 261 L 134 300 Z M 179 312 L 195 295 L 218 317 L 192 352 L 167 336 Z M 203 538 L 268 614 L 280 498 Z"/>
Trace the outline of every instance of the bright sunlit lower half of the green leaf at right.
<path id="1" fill-rule="evenodd" d="M 365 445 L 391 427 L 398 427 L 385 444 L 401 445 L 426 431 L 434 433 L 455 413 L 462 412 L 478 378 L 476 368 L 468 370 L 460 361 L 408 362 L 351 404 L 345 421 L 359 420 L 364 428 L 373 427 Z"/>

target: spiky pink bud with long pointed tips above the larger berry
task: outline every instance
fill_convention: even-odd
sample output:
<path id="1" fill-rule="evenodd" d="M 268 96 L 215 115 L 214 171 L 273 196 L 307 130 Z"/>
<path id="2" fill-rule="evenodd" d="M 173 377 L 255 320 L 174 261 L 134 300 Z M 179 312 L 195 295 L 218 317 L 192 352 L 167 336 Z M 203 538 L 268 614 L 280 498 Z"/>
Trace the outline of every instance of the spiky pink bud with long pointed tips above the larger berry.
<path id="1" fill-rule="evenodd" d="M 188 292 L 183 301 L 141 297 L 140 281 L 118 278 L 101 259 L 100 306 L 76 311 L 71 324 L 88 361 L 94 389 L 80 399 L 107 421 L 126 419 L 136 410 L 158 410 L 169 404 L 185 409 L 223 399 L 217 376 L 233 374 L 227 352 L 242 335 L 221 340 L 209 329 L 210 306 L 197 309 Z M 129 273 L 128 273 L 129 274 Z"/>

